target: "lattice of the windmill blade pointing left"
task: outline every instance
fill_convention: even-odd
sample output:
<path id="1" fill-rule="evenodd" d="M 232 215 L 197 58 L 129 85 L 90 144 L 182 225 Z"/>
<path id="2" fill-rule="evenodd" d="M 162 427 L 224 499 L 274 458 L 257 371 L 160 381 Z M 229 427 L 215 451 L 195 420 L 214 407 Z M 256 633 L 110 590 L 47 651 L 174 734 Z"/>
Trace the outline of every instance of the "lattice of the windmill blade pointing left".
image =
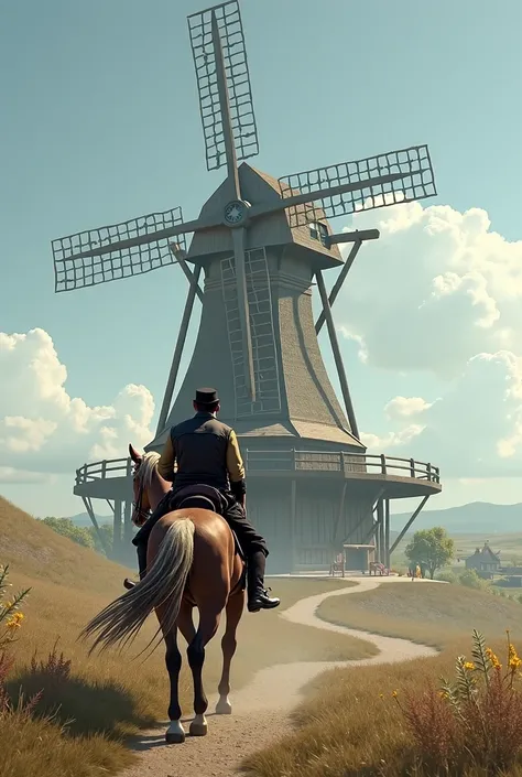
<path id="1" fill-rule="evenodd" d="M 176 207 L 53 240 L 55 291 L 73 291 L 108 283 L 176 263 L 176 258 L 168 249 L 168 238 L 151 238 L 151 242 L 145 240 L 149 235 L 181 224 L 182 209 Z M 184 235 L 176 239 L 185 248 Z M 126 246 L 126 241 L 133 241 L 134 245 Z M 96 255 L 77 256 L 91 251 L 96 251 Z"/>

